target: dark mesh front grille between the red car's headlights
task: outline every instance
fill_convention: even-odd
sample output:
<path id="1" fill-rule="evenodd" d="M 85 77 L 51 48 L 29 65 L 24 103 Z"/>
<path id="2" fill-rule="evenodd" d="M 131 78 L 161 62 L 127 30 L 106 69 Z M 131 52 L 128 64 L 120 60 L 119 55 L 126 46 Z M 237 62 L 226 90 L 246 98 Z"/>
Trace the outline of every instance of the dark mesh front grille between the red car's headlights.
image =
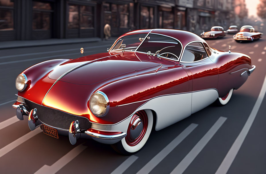
<path id="1" fill-rule="evenodd" d="M 48 126 L 68 131 L 71 122 L 79 120 L 79 127 L 81 130 L 91 128 L 91 122 L 85 117 L 42 106 L 26 99 L 25 103 L 29 111 L 36 108 L 38 119 Z"/>

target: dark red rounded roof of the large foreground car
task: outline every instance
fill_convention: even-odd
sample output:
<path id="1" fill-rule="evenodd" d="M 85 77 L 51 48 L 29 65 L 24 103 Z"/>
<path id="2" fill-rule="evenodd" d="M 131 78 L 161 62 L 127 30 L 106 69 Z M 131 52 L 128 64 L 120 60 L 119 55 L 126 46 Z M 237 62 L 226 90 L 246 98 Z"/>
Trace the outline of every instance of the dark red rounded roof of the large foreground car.
<path id="1" fill-rule="evenodd" d="M 184 31 L 184 30 L 177 30 L 177 29 L 141 29 L 141 30 L 135 30 L 135 31 L 130 31 L 128 33 L 125 33 L 124 35 L 120 36 L 118 39 L 120 39 L 121 37 L 124 37 L 126 35 L 139 34 L 139 33 L 147 33 L 148 34 L 149 32 L 178 39 L 181 42 L 181 44 L 183 45 L 183 48 L 185 47 L 185 45 L 187 45 L 191 41 L 205 42 L 204 39 L 202 39 L 201 37 L 199 37 L 198 35 L 196 35 L 194 33 L 191 33 L 189 31 Z"/>

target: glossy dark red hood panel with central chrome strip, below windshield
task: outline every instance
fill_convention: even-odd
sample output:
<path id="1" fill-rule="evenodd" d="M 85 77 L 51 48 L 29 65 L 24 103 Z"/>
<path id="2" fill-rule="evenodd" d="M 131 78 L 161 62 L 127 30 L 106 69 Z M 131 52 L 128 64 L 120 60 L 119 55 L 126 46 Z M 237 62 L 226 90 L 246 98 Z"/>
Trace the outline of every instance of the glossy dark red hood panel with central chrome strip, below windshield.
<path id="1" fill-rule="evenodd" d="M 111 54 L 111 55 L 110 55 Z M 140 61 L 134 53 L 101 53 L 65 62 L 49 74 L 50 79 L 89 85 L 107 79 L 126 78 L 158 70 L 156 62 Z"/>

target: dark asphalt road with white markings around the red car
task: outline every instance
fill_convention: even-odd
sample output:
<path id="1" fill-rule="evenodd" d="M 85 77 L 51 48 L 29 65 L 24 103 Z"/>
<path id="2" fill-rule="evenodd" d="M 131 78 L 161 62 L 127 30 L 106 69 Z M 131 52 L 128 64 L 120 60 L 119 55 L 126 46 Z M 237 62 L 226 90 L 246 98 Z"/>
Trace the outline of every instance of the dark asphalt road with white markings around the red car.
<path id="1" fill-rule="evenodd" d="M 78 58 L 81 47 L 85 55 L 105 52 L 112 42 L 0 50 L 0 173 L 265 173 L 265 36 L 250 43 L 236 43 L 232 35 L 207 40 L 218 50 L 228 51 L 231 45 L 232 52 L 249 55 L 257 68 L 226 106 L 210 105 L 152 131 L 143 149 L 132 156 L 91 139 L 72 146 L 68 137 L 54 139 L 40 128 L 30 131 L 26 119 L 15 117 L 11 105 L 20 72 L 45 60 Z"/>

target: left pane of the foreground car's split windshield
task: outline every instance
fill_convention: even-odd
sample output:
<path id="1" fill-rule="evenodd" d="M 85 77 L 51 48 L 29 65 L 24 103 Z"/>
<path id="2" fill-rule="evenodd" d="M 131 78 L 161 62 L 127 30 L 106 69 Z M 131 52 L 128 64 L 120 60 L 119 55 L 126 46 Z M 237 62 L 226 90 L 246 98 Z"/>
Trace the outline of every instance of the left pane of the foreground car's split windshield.
<path id="1" fill-rule="evenodd" d="M 120 38 L 115 46 L 110 51 L 130 50 L 135 51 L 142 40 L 146 37 L 147 33 L 126 35 Z"/>

